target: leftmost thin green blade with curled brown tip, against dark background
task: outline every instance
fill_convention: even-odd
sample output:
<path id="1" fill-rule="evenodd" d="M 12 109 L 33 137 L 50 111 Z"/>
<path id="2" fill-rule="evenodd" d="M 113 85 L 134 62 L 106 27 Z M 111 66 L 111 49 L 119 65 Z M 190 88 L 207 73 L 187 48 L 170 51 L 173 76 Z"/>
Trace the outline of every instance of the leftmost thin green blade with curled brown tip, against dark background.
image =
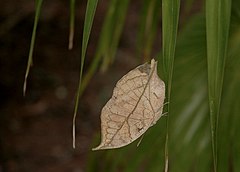
<path id="1" fill-rule="evenodd" d="M 25 79 L 24 79 L 24 84 L 23 84 L 23 95 L 25 96 L 26 94 L 26 89 L 27 89 L 27 79 L 29 75 L 29 71 L 31 66 L 33 65 L 33 48 L 35 44 L 35 38 L 36 38 L 36 31 L 37 31 L 37 25 L 39 21 L 39 16 L 41 12 L 41 7 L 42 7 L 42 2 L 43 0 L 36 0 L 36 12 L 35 12 L 35 18 L 34 18 L 34 25 L 33 25 L 33 31 L 32 31 L 32 38 L 31 38 L 31 44 L 30 44 L 30 51 L 28 55 L 28 63 L 27 63 L 27 69 L 25 73 Z"/>

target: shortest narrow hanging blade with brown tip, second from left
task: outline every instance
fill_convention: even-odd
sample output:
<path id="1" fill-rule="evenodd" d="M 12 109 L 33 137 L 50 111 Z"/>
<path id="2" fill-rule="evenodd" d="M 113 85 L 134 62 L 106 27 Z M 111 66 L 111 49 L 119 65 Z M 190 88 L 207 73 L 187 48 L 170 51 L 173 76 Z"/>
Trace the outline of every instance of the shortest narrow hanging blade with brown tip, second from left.
<path id="1" fill-rule="evenodd" d="M 74 26 L 75 26 L 75 0 L 70 0 L 70 22 L 69 22 L 69 40 L 68 40 L 69 50 L 73 48 Z"/>

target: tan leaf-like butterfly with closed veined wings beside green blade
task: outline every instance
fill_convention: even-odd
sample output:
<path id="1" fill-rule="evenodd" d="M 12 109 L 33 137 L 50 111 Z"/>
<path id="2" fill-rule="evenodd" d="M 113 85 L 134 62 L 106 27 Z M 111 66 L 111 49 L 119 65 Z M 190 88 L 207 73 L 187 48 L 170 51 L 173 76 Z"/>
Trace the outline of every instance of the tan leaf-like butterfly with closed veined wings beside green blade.
<path id="1" fill-rule="evenodd" d="M 128 72 L 102 109 L 101 143 L 93 150 L 119 148 L 139 138 L 161 117 L 164 98 L 154 59 Z"/>

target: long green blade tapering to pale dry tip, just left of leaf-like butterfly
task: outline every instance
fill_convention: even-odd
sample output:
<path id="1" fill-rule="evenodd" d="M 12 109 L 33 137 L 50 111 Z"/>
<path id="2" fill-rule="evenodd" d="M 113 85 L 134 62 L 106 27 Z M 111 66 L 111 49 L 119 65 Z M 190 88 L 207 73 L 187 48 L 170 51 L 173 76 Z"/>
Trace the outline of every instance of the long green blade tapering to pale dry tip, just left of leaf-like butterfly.
<path id="1" fill-rule="evenodd" d="M 74 107 L 74 115 L 73 115 L 73 148 L 75 148 L 75 123 L 76 123 L 76 116 L 79 104 L 79 95 L 82 86 L 82 75 L 83 75 L 83 67 L 84 67 L 84 60 L 87 51 L 87 45 L 89 41 L 89 36 L 91 33 L 93 18 L 95 15 L 96 7 L 97 7 L 98 0 L 88 0 L 85 20 L 84 20 L 84 28 L 83 28 L 83 39 L 82 39 L 82 54 L 81 54 L 81 66 L 80 66 L 80 75 L 79 75 L 79 85 L 77 90 L 76 102 Z"/>

